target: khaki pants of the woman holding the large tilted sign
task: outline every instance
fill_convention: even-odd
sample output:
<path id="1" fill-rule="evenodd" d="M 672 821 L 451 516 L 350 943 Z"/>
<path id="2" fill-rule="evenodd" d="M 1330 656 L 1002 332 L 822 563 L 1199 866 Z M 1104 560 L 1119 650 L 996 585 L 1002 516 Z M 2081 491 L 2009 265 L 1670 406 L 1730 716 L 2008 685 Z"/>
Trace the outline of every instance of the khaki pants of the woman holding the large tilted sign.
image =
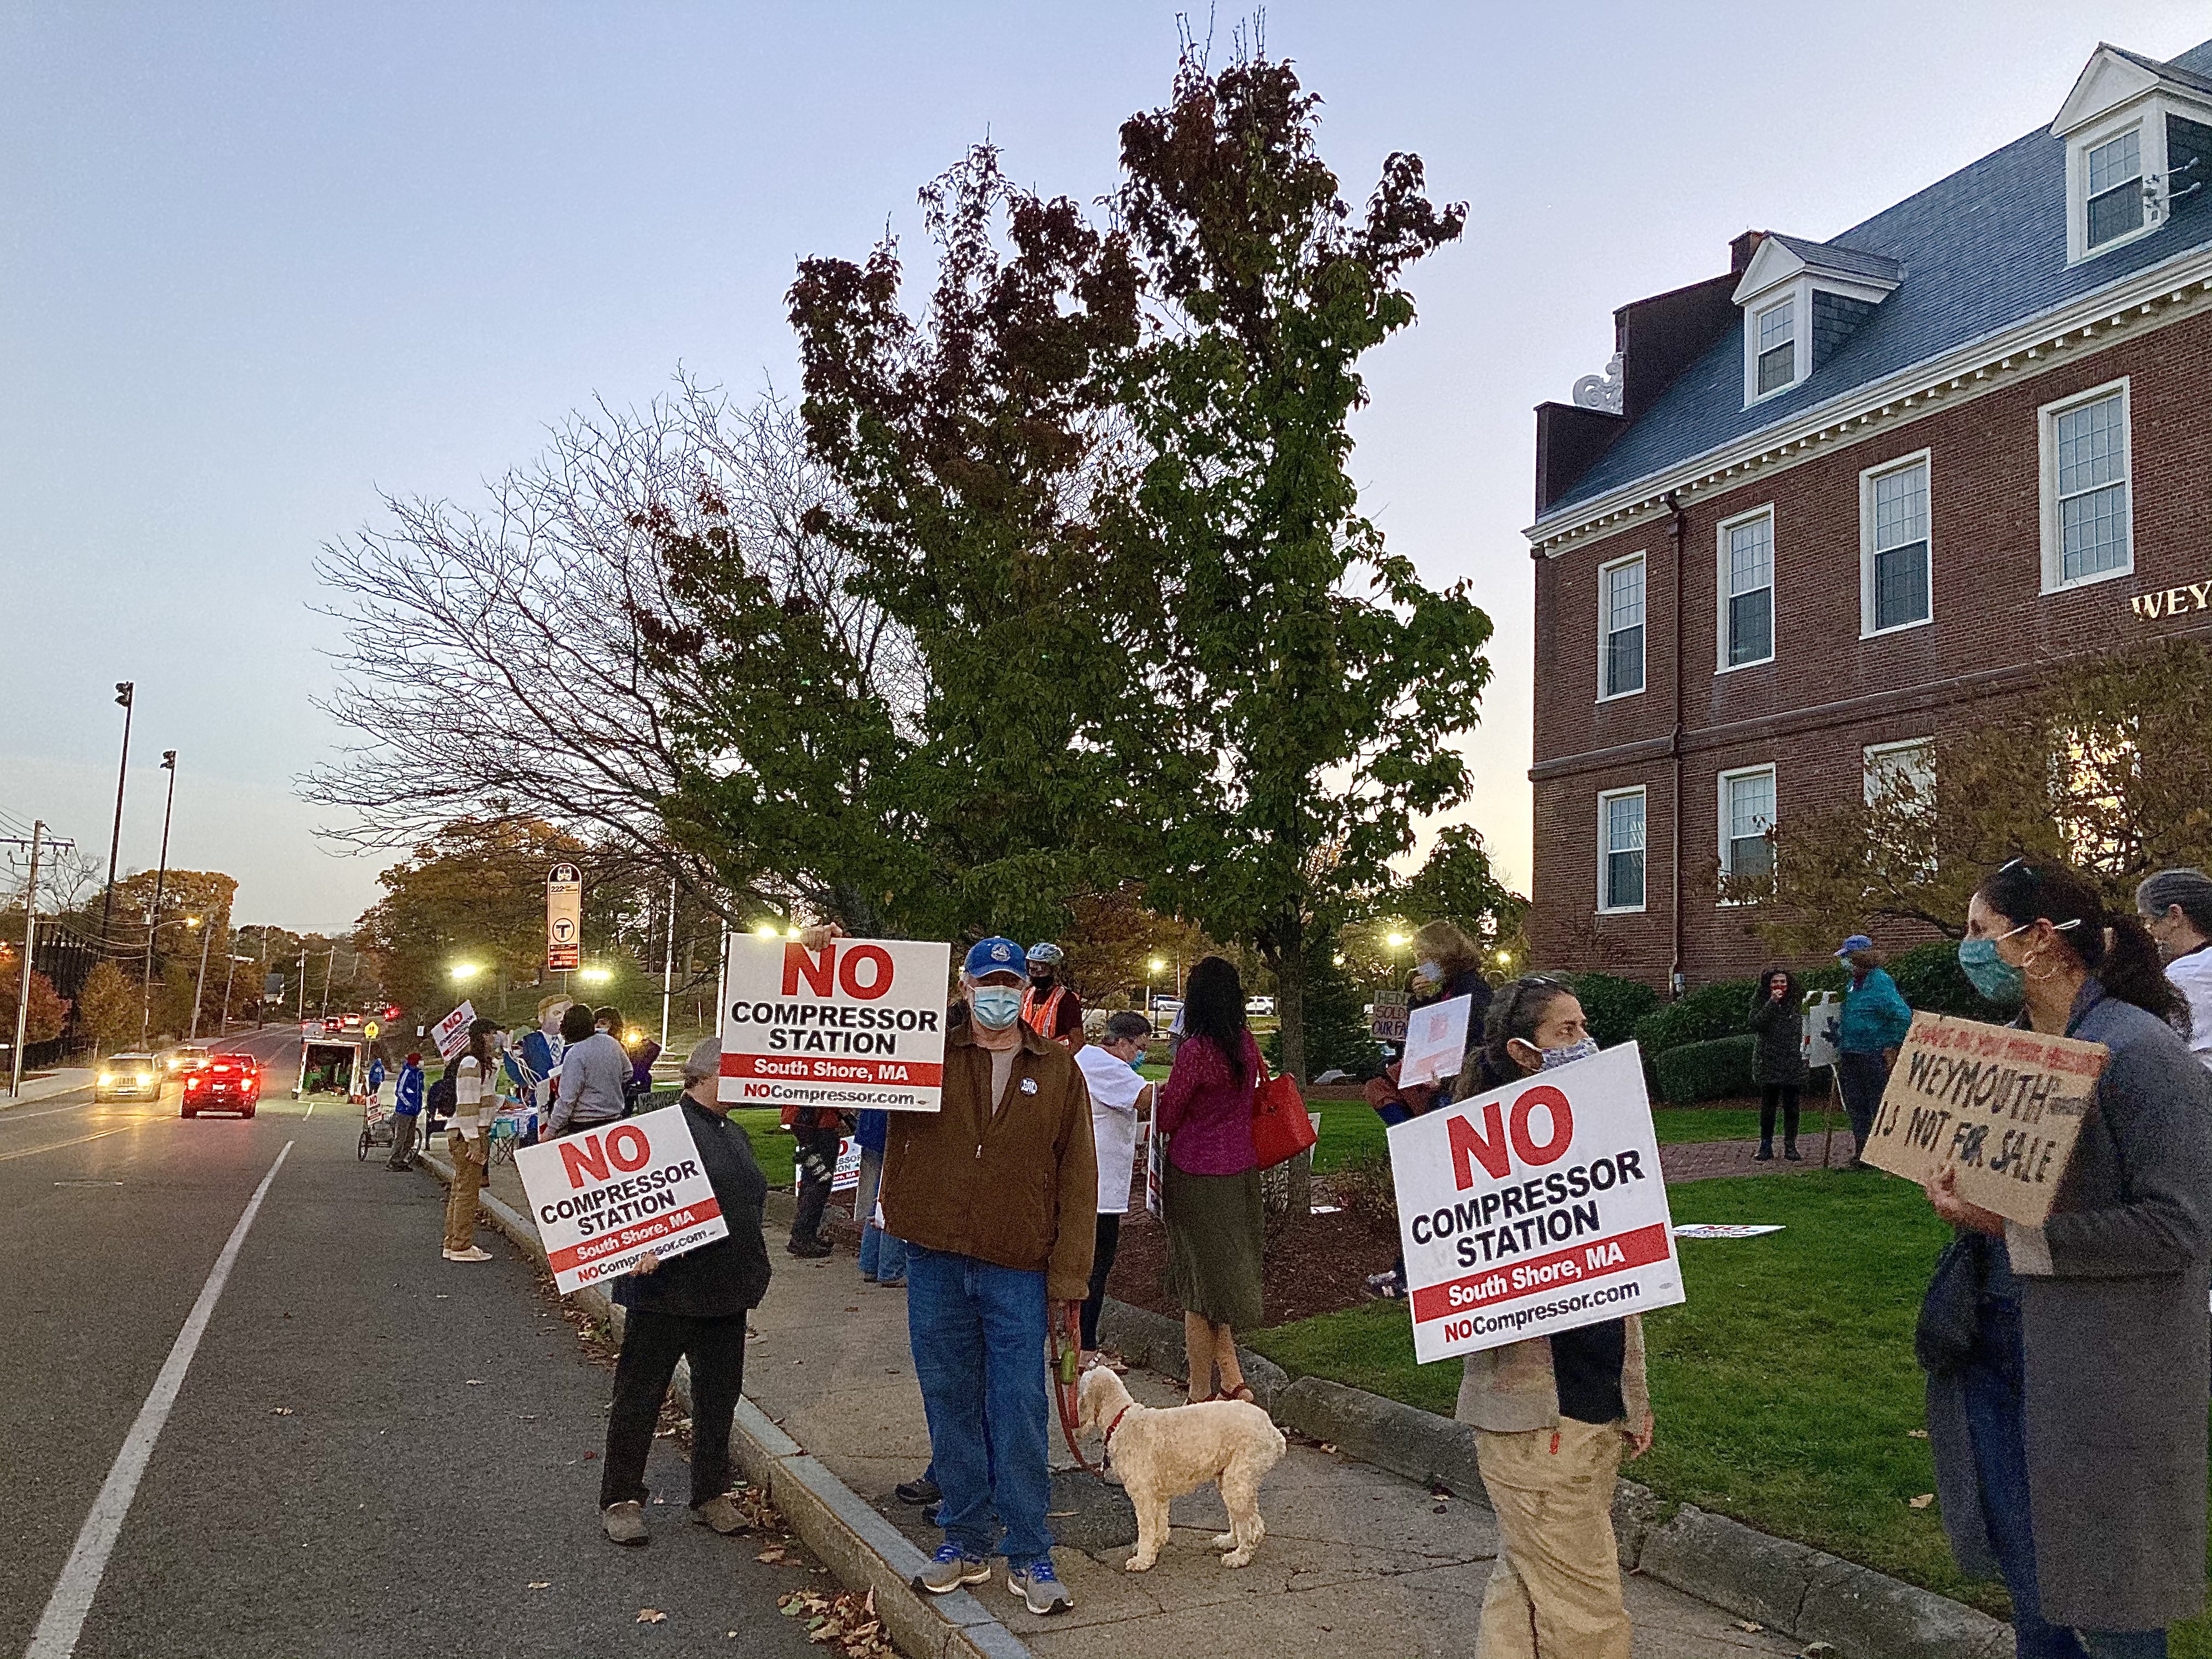
<path id="1" fill-rule="evenodd" d="M 1475 1462 L 1504 1548 L 1482 1595 L 1475 1659 L 1628 1659 L 1613 1542 L 1619 1422 L 1475 1431 Z"/>

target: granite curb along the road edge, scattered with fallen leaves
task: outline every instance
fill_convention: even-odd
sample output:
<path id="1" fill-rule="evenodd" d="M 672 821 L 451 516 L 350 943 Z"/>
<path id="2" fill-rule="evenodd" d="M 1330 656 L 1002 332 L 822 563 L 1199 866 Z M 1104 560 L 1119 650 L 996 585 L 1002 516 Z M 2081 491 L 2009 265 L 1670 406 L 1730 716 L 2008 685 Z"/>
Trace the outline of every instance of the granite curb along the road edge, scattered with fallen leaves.
<path id="1" fill-rule="evenodd" d="M 422 1161 L 445 1183 L 453 1166 L 438 1152 Z M 491 1192 L 478 1194 L 478 1208 L 493 1228 L 520 1245 L 540 1267 L 544 1245 L 529 1217 Z M 622 1310 L 597 1285 L 571 1292 L 571 1298 L 622 1338 Z M 690 1371 L 677 1365 L 677 1400 L 690 1411 Z M 872 1590 L 876 1617 L 883 1619 L 909 1659 L 1029 1659 L 1029 1644 L 993 1619 L 982 1601 L 967 1590 L 929 1595 L 916 1588 L 916 1577 L 929 1557 L 891 1522 L 878 1515 L 843 1480 L 779 1429 L 750 1398 L 737 1402 L 730 1451 L 745 1480 L 768 1491 L 801 1542 L 836 1573 L 847 1590 Z"/>

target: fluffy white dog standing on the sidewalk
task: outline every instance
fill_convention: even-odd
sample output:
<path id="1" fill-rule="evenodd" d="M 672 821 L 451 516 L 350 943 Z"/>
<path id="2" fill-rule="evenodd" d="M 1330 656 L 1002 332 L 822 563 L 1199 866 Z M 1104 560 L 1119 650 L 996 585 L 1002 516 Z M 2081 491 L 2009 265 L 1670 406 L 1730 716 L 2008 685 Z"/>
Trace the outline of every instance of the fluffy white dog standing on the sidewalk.
<path id="1" fill-rule="evenodd" d="M 1203 1400 L 1155 1409 L 1137 1405 L 1104 1365 L 1084 1371 L 1077 1427 L 1106 1442 L 1106 1455 L 1137 1506 L 1137 1553 L 1124 1564 L 1144 1573 L 1168 1542 L 1168 1500 L 1208 1482 L 1221 1486 L 1230 1531 L 1214 1540 L 1221 1566 L 1252 1559 L 1267 1526 L 1259 1517 L 1259 1482 L 1283 1458 L 1283 1431 L 1245 1400 Z"/>

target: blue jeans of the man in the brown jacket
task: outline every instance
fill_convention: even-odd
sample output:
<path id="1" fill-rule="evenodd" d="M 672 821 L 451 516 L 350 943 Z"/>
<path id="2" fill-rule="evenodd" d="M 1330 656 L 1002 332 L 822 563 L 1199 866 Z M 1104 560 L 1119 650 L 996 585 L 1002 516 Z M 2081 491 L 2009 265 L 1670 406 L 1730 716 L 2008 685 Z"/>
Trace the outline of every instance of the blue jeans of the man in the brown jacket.
<path id="1" fill-rule="evenodd" d="M 1044 1325 L 1044 1274 L 907 1245 L 907 1340 L 945 1491 L 938 1526 L 967 1555 L 998 1546 L 1020 1566 L 1053 1548 Z"/>

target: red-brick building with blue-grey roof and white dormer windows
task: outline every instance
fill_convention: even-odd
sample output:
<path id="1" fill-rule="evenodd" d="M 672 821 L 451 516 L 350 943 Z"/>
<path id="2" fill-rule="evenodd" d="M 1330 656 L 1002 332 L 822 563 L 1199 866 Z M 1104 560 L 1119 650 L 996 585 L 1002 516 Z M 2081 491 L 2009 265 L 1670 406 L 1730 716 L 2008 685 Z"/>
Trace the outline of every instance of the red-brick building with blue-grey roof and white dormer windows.
<path id="1" fill-rule="evenodd" d="M 2099 46 L 2048 128 L 1745 232 L 1615 343 L 1537 409 L 1531 936 L 1701 984 L 1759 967 L 1714 872 L 1767 825 L 2055 659 L 2212 633 L 2212 42 Z"/>

